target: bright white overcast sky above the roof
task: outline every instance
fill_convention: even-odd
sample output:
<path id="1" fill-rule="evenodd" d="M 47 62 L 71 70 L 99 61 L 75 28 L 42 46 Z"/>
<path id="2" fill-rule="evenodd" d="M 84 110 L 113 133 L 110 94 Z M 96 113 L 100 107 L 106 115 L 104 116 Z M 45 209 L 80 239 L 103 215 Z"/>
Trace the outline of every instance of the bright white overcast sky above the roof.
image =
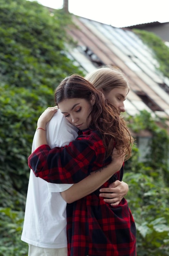
<path id="1" fill-rule="evenodd" d="M 37 2 L 54 9 L 63 6 L 63 0 Z M 69 11 L 114 27 L 169 22 L 169 0 L 69 0 Z"/>

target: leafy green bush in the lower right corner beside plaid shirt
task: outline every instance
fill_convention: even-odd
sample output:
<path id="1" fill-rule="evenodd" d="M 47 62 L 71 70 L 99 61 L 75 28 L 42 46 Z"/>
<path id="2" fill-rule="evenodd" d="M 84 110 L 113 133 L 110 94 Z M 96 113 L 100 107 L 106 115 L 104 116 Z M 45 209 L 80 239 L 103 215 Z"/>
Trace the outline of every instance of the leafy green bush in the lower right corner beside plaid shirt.
<path id="1" fill-rule="evenodd" d="M 142 169 L 144 169 L 142 165 Z M 169 255 L 169 188 L 162 180 L 138 173 L 125 173 L 129 184 L 127 201 L 137 229 L 138 256 Z"/>

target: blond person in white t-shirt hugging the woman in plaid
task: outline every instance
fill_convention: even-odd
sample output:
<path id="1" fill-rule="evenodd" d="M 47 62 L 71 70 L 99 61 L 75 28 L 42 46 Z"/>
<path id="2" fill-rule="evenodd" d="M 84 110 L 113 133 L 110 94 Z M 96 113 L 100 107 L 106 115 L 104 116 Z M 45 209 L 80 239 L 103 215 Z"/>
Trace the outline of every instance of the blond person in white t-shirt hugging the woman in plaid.
<path id="1" fill-rule="evenodd" d="M 108 89 L 108 85 L 105 83 L 108 77 L 108 84 L 111 90 L 106 89 L 104 91 L 103 81 L 100 81 L 100 76 L 103 78 L 104 75 L 104 84 Z M 92 72 L 91 76 L 90 74 L 86 76 L 86 79 L 91 83 L 94 80 L 93 84 L 96 84 L 96 87 L 101 82 L 102 88 L 99 89 L 103 90 L 106 98 L 121 112 L 125 111 L 123 101 L 129 92 L 129 85 L 120 70 L 108 66 L 101 67 Z M 112 94 L 113 91 L 115 93 Z M 75 140 L 77 128 L 72 126 L 58 110 L 46 126 L 46 137 L 51 148 L 65 146 L 70 141 Z M 35 140 L 36 132 L 33 138 L 32 152 L 35 150 Z M 66 201 L 62 196 L 64 198 L 68 196 L 71 186 L 77 187 L 78 185 L 48 183 L 39 177 L 35 177 L 33 171 L 30 171 L 21 236 L 21 240 L 29 244 L 28 256 L 67 256 Z M 125 182 L 116 180 L 109 188 L 102 189 L 100 196 L 105 197 L 106 199 L 104 200 L 106 202 L 117 205 L 127 192 L 128 185 Z M 83 195 L 86 191 L 80 194 L 76 193 L 75 190 L 73 193 L 76 194 L 76 196 L 72 194 L 72 196 L 76 197 L 75 200 L 86 195 Z M 91 188 L 88 188 L 87 193 L 91 193 Z"/>

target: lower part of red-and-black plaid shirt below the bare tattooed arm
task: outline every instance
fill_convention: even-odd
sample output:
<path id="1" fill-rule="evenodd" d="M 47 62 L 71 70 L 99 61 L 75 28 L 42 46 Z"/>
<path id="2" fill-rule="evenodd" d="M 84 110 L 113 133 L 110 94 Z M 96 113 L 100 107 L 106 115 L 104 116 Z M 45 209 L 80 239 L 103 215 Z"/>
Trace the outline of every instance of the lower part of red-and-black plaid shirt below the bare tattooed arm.
<path id="1" fill-rule="evenodd" d="M 67 236 L 68 256 L 136 256 L 136 227 L 127 201 L 111 207 L 99 190 L 67 204 Z"/>

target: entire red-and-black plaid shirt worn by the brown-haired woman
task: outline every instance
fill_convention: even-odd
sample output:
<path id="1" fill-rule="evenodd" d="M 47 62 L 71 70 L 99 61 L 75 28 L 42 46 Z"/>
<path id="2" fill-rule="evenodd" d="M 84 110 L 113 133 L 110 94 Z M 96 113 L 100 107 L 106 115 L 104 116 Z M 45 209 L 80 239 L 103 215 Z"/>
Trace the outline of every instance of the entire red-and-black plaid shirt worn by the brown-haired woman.
<path id="1" fill-rule="evenodd" d="M 110 163 L 96 130 L 79 132 L 68 146 L 37 148 L 28 159 L 36 176 L 53 183 L 77 183 Z M 103 184 L 108 187 L 120 172 Z M 68 256 L 136 256 L 136 227 L 127 201 L 111 207 L 99 189 L 67 204 Z"/>

